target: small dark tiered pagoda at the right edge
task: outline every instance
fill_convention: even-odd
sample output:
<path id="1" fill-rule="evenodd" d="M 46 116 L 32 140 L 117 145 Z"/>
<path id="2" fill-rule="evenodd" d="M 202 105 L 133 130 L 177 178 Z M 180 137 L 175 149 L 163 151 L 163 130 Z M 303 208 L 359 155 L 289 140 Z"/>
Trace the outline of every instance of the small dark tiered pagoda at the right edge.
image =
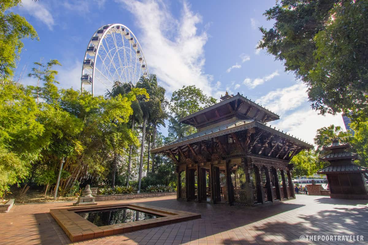
<path id="1" fill-rule="evenodd" d="M 338 140 L 323 146 L 328 153 L 320 159 L 330 165 L 318 170 L 318 174 L 326 174 L 331 198 L 368 199 L 368 169 L 353 164 L 358 155 L 349 152 L 350 144 Z"/>

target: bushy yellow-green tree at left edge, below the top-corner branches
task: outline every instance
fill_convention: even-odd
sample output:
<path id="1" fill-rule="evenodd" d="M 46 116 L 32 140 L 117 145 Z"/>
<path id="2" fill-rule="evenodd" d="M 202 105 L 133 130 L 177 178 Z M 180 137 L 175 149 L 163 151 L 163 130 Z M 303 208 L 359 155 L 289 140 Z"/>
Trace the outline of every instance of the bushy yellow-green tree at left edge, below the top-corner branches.
<path id="1" fill-rule="evenodd" d="M 0 84 L 0 196 L 9 185 L 28 176 L 31 163 L 50 143 L 43 137 L 45 126 L 38 120 L 41 113 L 22 84 Z"/>

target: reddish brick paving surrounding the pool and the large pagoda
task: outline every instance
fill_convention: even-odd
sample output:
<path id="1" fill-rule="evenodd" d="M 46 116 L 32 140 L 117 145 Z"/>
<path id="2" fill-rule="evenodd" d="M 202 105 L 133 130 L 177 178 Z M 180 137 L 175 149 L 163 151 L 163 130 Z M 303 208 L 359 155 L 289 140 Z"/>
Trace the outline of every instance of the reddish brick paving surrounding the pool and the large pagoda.
<path id="1" fill-rule="evenodd" d="M 202 218 L 79 243 L 368 244 L 367 200 L 297 195 L 295 200 L 254 208 L 176 201 L 176 196 L 99 203 L 130 202 L 201 213 Z M 71 203 L 16 205 L 9 213 L 0 213 L 0 244 L 72 244 L 49 213 L 50 209 L 70 206 Z M 365 241 L 300 241 L 301 235 L 360 235 Z"/>

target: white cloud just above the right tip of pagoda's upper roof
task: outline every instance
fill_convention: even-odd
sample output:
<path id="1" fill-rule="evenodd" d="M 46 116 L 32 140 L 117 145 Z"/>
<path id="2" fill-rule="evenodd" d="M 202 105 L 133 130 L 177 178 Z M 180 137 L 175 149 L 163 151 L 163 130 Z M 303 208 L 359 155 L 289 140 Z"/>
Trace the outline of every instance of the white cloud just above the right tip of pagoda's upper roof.
<path id="1" fill-rule="evenodd" d="M 299 107 L 307 100 L 307 85 L 298 81 L 293 86 L 273 90 L 265 96 L 258 98 L 255 102 L 262 104 L 263 107 L 268 108 L 270 111 L 280 114 L 281 112 Z"/>

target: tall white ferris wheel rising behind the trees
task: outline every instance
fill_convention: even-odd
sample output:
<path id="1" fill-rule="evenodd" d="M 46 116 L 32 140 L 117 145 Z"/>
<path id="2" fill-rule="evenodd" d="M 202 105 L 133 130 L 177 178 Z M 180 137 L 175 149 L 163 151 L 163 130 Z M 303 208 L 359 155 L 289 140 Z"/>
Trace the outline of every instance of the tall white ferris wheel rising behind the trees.
<path id="1" fill-rule="evenodd" d="M 133 32 L 122 24 L 101 26 L 89 40 L 84 56 L 81 91 L 109 89 L 114 82 L 135 84 L 147 76 L 148 67 L 141 45 Z"/>

